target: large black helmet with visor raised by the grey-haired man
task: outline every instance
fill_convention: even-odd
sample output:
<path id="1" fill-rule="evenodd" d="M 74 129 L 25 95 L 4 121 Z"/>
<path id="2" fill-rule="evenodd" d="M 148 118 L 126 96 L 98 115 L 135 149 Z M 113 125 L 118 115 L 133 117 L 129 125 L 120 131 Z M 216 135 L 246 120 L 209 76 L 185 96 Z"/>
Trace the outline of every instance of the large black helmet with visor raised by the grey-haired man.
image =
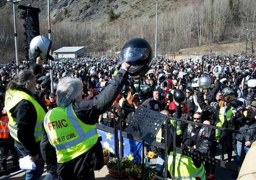
<path id="1" fill-rule="evenodd" d="M 139 79 L 150 69 L 153 63 L 152 58 L 153 52 L 149 43 L 145 39 L 135 38 L 123 46 L 120 62 L 130 63 L 129 75 L 134 79 Z"/>

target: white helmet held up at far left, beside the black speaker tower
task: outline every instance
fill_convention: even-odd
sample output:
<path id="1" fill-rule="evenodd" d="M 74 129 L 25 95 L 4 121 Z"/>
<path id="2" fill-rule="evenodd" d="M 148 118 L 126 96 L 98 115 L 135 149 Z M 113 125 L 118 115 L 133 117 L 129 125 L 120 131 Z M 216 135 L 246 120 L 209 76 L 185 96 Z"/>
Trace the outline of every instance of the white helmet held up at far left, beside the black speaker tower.
<path id="1" fill-rule="evenodd" d="M 31 40 L 29 45 L 29 58 L 34 60 L 40 55 L 42 60 L 54 60 L 54 58 L 50 56 L 51 47 L 52 41 L 50 39 L 44 36 L 36 36 Z"/>

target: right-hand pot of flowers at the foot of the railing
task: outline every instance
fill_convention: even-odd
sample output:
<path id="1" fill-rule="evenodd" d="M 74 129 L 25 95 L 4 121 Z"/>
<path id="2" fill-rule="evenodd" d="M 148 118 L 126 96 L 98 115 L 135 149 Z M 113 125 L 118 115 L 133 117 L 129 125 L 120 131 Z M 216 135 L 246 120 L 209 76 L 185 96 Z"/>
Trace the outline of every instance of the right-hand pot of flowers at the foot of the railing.
<path id="1" fill-rule="evenodd" d="M 125 169 L 130 180 L 142 180 L 142 165 L 133 163 L 130 168 Z M 145 166 L 145 180 L 154 180 L 156 171 L 151 167 Z"/>

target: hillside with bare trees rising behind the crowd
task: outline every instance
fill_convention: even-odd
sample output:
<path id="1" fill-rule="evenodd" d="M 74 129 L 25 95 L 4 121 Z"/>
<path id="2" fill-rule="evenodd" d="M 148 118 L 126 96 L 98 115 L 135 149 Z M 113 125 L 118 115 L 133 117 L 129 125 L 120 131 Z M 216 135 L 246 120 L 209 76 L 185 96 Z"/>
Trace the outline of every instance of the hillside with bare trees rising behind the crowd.
<path id="1" fill-rule="evenodd" d="M 53 50 L 62 46 L 85 46 L 88 54 L 115 52 L 132 38 L 146 39 L 154 50 L 155 2 L 50 0 Z M 19 3 L 40 8 L 40 34 L 47 36 L 47 0 Z M 0 45 L 13 50 L 12 3 L 0 0 L 0 6 Z M 248 42 L 255 41 L 255 9 L 256 1 L 252 0 L 158 0 L 158 52 L 175 53 L 194 47 L 200 47 L 194 51 L 200 52 L 205 47 L 208 52 L 210 47 L 219 44 L 244 42 L 247 38 Z M 19 51 L 24 52 L 23 24 L 17 10 L 18 45 Z M 243 49 L 239 45 L 227 50 L 220 47 L 227 52 Z"/>

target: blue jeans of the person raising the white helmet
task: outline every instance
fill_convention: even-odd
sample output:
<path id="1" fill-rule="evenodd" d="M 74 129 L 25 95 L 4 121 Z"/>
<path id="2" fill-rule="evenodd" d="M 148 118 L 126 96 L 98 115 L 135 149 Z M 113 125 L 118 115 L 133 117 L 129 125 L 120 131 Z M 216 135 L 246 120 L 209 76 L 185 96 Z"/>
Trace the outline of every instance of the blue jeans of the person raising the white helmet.
<path id="1" fill-rule="evenodd" d="M 27 151 L 18 143 L 14 143 L 15 148 L 20 151 L 20 153 L 25 157 L 28 155 Z M 40 146 L 38 146 L 38 155 L 39 158 L 37 161 L 34 161 L 36 165 L 36 169 L 27 170 L 25 180 L 40 180 L 41 175 L 44 172 L 44 161 L 42 158 L 42 154 L 40 152 Z"/>

